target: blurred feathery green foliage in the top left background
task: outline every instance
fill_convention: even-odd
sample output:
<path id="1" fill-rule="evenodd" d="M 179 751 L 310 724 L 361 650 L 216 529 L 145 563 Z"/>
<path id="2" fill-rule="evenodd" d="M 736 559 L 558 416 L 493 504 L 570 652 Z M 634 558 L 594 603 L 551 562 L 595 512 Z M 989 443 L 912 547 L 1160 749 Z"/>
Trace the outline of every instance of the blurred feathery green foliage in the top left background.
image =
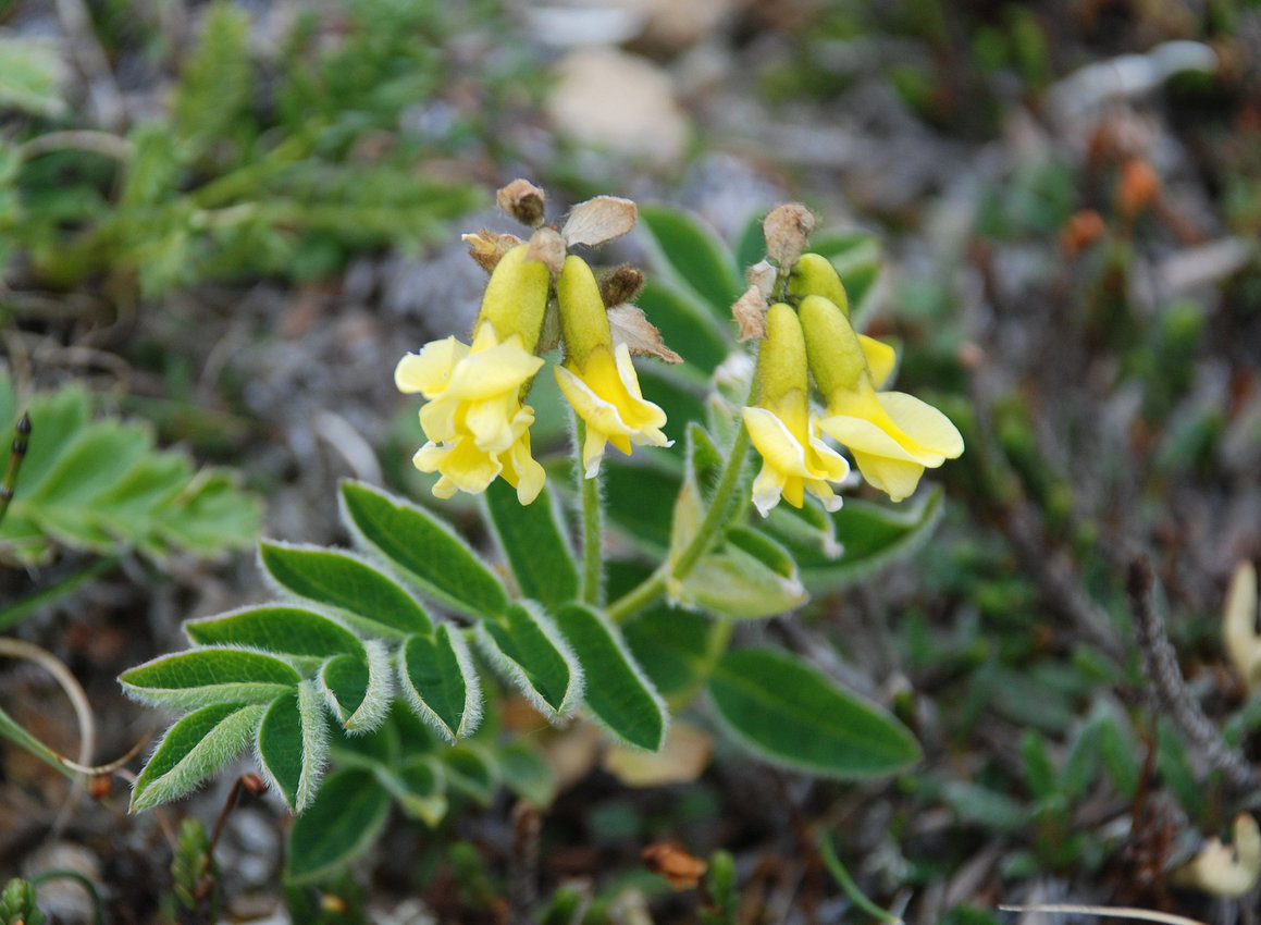
<path id="1" fill-rule="evenodd" d="M 106 42 L 116 5 L 100 10 Z M 122 135 L 79 131 L 55 61 L 0 43 L 0 98 L 25 111 L 0 144 L 0 265 L 38 285 L 103 279 L 124 300 L 194 283 L 337 273 L 359 250 L 433 237 L 480 202 L 436 162 L 484 156 L 494 114 L 527 86 L 497 56 L 462 82 L 454 37 L 498 6 L 356 0 L 304 10 L 261 59 L 248 14 L 219 0 L 179 68 L 169 109 Z M 150 35 L 156 40 L 156 35 Z M 479 111 L 449 97 L 464 95 Z M 68 131 L 69 130 L 69 131 Z"/>

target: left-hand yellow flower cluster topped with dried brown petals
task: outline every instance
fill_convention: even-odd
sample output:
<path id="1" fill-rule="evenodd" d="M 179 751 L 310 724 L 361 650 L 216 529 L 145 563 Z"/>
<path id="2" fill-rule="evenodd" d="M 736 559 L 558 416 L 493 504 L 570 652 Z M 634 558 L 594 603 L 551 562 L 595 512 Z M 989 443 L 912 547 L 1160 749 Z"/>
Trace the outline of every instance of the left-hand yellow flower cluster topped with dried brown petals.
<path id="1" fill-rule="evenodd" d="M 638 309 L 622 304 L 638 288 L 637 271 L 615 273 L 601 293 L 590 266 L 566 255 L 571 245 L 598 245 L 629 231 L 633 202 L 590 199 L 574 208 L 559 232 L 542 227 L 542 191 L 525 180 L 501 189 L 499 204 L 536 230 L 528 242 L 489 231 L 465 236 L 473 257 L 491 270 L 472 345 L 455 337 L 427 343 L 398 362 L 395 382 L 426 400 L 420 425 L 429 442 L 412 462 L 421 472 L 439 473 L 435 496 L 482 492 L 502 476 L 528 505 L 542 491 L 545 473 L 531 453 L 535 414 L 525 398 L 545 363 L 538 355 L 555 346 L 545 336 L 557 327 L 549 323 L 550 312 L 560 315 L 565 346 L 556 380 L 585 425 L 588 478 L 599 472 L 608 443 L 623 453 L 632 444 L 671 445 L 661 430 L 665 413 L 639 391 L 622 324 L 634 327 L 636 352 L 670 362 L 678 356 Z M 619 319 L 618 331 L 610 315 Z"/>

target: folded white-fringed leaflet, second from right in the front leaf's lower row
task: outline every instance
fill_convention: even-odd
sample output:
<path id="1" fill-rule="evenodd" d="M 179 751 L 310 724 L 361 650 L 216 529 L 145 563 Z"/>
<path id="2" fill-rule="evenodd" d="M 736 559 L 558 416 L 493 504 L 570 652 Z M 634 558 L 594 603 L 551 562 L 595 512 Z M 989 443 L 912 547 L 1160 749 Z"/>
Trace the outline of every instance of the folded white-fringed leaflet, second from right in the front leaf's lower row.
<path id="1" fill-rule="evenodd" d="M 583 669 L 546 611 L 513 603 L 503 621 L 477 627 L 483 655 L 546 717 L 571 713 L 583 697 Z"/>

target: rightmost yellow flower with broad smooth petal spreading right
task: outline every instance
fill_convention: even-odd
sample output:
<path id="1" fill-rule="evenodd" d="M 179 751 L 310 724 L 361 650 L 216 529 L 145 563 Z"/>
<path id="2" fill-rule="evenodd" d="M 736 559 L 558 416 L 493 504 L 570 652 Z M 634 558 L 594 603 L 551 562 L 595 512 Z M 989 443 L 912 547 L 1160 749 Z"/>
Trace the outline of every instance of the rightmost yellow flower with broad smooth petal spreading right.
<path id="1" fill-rule="evenodd" d="M 807 295 L 801 303 L 810 368 L 827 403 L 820 429 L 844 444 L 863 477 L 902 501 L 924 468 L 963 452 L 963 438 L 944 414 L 904 392 L 878 392 L 849 319 L 832 302 Z"/>

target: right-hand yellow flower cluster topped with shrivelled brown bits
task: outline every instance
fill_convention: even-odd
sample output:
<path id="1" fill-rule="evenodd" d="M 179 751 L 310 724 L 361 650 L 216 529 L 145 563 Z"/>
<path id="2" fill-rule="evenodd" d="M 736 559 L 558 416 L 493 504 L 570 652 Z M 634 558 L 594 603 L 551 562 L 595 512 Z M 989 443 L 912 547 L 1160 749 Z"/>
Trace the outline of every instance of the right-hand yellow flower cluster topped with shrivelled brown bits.
<path id="1" fill-rule="evenodd" d="M 754 268 L 753 285 L 735 307 L 741 331 L 763 337 L 755 405 L 744 409 L 745 428 L 763 459 L 753 485 L 763 516 L 781 497 L 801 507 L 806 490 L 827 510 L 840 506 L 828 483 L 850 469 L 822 434 L 842 444 L 863 478 L 894 501 L 915 490 L 926 468 L 963 452 L 958 430 L 936 408 L 904 392 L 878 391 L 893 374 L 894 351 L 854 331 L 836 269 L 826 257 L 802 254 L 812 225 L 802 213 L 808 216 L 789 206 L 767 217 L 768 250 L 778 269 L 769 262 Z M 787 289 L 788 302 L 760 310 L 777 285 Z M 810 411 L 807 370 L 822 414 Z"/>

